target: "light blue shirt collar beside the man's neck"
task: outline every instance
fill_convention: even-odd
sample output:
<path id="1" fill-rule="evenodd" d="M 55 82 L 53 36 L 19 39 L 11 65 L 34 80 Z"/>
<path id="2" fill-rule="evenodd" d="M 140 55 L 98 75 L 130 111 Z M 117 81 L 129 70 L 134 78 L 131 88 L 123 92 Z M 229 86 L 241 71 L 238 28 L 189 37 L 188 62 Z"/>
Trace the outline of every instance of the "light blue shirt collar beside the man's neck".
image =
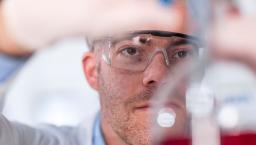
<path id="1" fill-rule="evenodd" d="M 97 115 L 93 125 L 92 143 L 93 145 L 106 145 L 101 131 L 100 114 Z"/>

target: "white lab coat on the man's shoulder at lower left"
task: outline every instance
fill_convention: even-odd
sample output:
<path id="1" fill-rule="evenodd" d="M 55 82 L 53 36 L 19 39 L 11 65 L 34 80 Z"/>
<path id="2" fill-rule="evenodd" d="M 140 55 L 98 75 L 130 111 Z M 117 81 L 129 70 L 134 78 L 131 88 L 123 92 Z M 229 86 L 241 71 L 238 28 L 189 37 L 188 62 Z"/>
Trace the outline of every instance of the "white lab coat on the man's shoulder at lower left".
<path id="1" fill-rule="evenodd" d="M 0 145 L 92 145 L 96 114 L 77 127 L 29 127 L 0 115 Z"/>

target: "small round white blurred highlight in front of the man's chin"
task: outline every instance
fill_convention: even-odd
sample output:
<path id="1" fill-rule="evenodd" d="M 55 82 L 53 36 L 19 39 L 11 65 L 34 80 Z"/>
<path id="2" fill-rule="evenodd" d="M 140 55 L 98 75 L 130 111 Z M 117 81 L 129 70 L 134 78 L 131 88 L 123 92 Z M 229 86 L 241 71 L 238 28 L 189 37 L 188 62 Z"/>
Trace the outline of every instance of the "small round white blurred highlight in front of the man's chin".
<path id="1" fill-rule="evenodd" d="M 158 112 L 157 123 L 164 128 L 172 127 L 175 119 L 176 113 L 171 108 L 163 108 Z"/>

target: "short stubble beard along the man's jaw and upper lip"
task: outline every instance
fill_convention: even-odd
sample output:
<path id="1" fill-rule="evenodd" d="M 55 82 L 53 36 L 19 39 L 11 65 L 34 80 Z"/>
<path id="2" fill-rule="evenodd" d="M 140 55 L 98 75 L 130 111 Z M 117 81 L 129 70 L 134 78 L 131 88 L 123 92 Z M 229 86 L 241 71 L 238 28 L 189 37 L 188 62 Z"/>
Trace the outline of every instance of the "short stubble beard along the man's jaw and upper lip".
<path id="1" fill-rule="evenodd" d="M 126 111 L 124 108 L 125 102 L 122 100 L 122 96 L 125 94 L 121 94 L 120 89 L 113 86 L 111 82 L 105 81 L 101 74 L 99 75 L 99 86 L 102 117 L 117 136 L 127 145 L 153 145 L 152 134 L 150 133 L 150 124 L 152 124 L 150 118 L 142 122 L 131 112 Z M 147 96 L 149 94 L 146 92 L 146 94 L 141 94 L 136 99 L 147 99 Z M 136 101 L 136 99 L 133 101 Z M 132 100 L 127 102 L 132 103 Z"/>

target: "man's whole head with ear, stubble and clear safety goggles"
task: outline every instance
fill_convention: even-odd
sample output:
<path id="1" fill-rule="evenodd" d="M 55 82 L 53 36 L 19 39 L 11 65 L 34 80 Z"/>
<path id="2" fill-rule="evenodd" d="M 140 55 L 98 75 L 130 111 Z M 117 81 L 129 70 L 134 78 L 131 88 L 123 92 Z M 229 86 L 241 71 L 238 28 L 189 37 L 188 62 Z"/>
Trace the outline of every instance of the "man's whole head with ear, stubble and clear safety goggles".
<path id="1" fill-rule="evenodd" d="M 185 18 L 184 18 L 185 19 Z M 184 24 L 184 23 L 183 23 Z M 167 74 L 198 53 L 184 25 L 176 29 L 144 27 L 90 41 L 91 51 L 83 59 L 89 84 L 100 95 L 100 125 L 108 145 L 151 145 L 156 116 L 152 100 Z M 187 134 L 185 83 L 179 83 L 164 107 L 176 114 L 168 134 Z"/>

